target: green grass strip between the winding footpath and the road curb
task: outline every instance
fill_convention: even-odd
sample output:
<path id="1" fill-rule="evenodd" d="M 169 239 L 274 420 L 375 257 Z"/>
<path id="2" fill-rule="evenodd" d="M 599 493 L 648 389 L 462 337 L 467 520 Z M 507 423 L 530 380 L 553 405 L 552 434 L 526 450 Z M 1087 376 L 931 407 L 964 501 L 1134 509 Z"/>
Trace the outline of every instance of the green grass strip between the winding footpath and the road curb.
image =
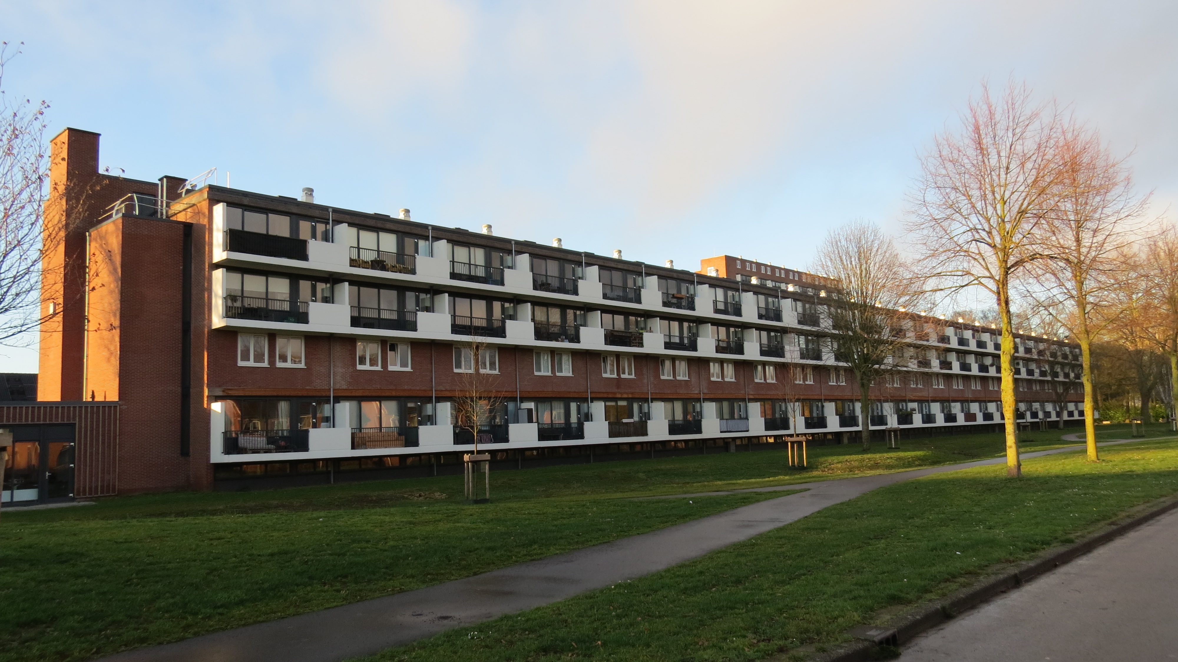
<path id="1" fill-rule="evenodd" d="M 370 660 L 793 658 L 880 610 L 947 594 L 1178 491 L 1178 442 L 1103 455 L 1032 458 L 1021 479 L 997 465 L 900 483 L 655 575 Z"/>

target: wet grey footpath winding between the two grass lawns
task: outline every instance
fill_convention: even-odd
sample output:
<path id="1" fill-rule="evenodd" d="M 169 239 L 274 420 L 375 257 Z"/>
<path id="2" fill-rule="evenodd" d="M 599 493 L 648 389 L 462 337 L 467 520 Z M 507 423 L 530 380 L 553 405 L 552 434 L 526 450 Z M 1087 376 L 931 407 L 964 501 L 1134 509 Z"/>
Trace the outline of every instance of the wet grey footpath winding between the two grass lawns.
<path id="1" fill-rule="evenodd" d="M 1132 439 L 1140 441 L 1140 439 Z M 1129 443 L 1107 442 L 1106 444 Z M 1106 445 L 1101 444 L 1101 445 Z M 1076 446 L 1024 454 L 1024 458 Z M 106 657 L 119 662 L 333 662 L 634 580 L 795 522 L 874 489 L 931 474 L 1002 464 L 995 457 L 880 476 L 736 491 L 806 490 L 649 534 L 413 591 Z M 706 496 L 734 494 L 701 492 Z"/>

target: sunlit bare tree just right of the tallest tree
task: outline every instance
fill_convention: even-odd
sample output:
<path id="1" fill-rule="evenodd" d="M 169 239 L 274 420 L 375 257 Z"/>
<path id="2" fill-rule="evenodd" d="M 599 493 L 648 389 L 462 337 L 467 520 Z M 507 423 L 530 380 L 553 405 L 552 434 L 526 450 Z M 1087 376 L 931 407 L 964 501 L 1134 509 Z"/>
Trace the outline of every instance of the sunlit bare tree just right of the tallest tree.
<path id="1" fill-rule="evenodd" d="M 1067 127 L 1059 141 L 1058 200 L 1040 224 L 1046 259 L 1027 271 L 1025 291 L 1080 345 L 1084 364 L 1084 431 L 1088 461 L 1099 459 L 1092 385 L 1092 343 L 1113 319 L 1098 313 L 1116 305 L 1126 276 L 1121 256 L 1132 245 L 1149 196 L 1133 192 L 1124 158 L 1113 157 L 1094 131 Z"/>

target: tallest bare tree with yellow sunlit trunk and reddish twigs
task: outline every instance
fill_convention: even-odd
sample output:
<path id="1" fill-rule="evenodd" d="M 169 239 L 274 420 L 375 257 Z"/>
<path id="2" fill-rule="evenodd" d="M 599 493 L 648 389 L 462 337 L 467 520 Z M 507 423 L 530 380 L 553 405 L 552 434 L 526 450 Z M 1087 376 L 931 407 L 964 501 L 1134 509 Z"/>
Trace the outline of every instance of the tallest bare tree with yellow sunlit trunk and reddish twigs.
<path id="1" fill-rule="evenodd" d="M 1057 204 L 1064 120 L 1053 104 L 1032 104 L 1026 86 L 1011 85 L 994 99 L 984 85 L 961 124 L 958 133 L 938 135 L 922 157 L 907 227 L 927 291 L 981 289 L 994 298 L 1006 471 L 1020 476 L 1011 287 L 1035 259 L 1043 219 Z"/>

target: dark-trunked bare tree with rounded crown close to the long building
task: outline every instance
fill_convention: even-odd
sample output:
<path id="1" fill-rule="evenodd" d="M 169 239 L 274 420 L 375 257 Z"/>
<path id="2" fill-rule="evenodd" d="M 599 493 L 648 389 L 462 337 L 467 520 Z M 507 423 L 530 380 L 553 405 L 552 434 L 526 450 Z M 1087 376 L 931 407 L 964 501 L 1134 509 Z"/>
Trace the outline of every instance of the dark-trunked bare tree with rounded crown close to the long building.
<path id="1" fill-rule="evenodd" d="M 835 359 L 855 375 L 863 450 L 869 450 L 871 390 L 898 369 L 895 358 L 908 345 L 905 311 L 915 302 L 911 280 L 892 239 L 863 221 L 832 230 L 814 271 L 838 282 L 827 303 Z"/>

